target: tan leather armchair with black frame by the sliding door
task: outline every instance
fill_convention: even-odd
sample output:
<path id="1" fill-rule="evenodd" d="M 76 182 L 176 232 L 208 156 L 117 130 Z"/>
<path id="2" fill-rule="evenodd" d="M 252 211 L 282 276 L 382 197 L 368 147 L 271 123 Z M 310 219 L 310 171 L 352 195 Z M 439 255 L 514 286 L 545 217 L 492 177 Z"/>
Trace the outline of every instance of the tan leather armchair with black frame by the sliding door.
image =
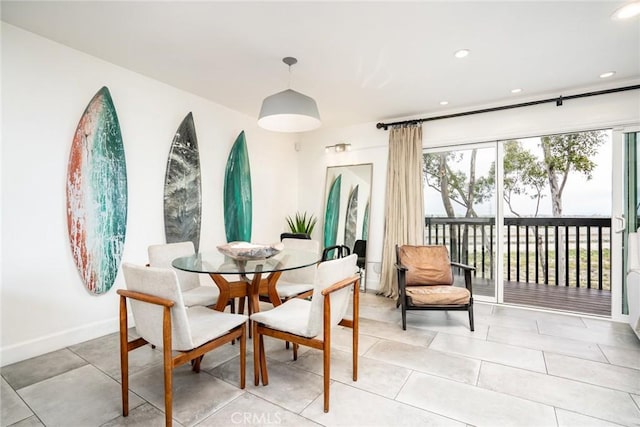
<path id="1" fill-rule="evenodd" d="M 446 246 L 396 245 L 398 305 L 402 306 L 402 329 L 407 329 L 407 310 L 464 310 L 473 327 L 474 267 L 451 262 Z M 453 268 L 464 271 L 465 287 L 453 286 Z"/>

